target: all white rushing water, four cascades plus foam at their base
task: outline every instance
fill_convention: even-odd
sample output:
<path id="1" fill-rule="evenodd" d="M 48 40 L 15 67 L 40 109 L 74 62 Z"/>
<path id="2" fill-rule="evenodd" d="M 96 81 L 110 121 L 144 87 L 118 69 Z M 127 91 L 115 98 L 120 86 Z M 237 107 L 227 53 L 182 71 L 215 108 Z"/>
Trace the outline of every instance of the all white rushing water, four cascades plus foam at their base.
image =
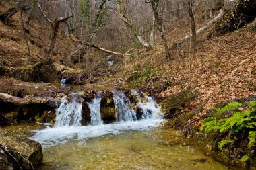
<path id="1" fill-rule="evenodd" d="M 100 114 L 100 94 L 87 103 L 90 108 L 91 125 L 82 126 L 82 99 L 74 95 L 72 101 L 67 97 L 61 99 L 61 105 L 56 110 L 56 121 L 53 127 L 48 126 L 43 130 L 33 130 L 36 132 L 31 137 L 42 144 L 43 148 L 64 144 L 69 140 L 85 140 L 106 134 L 120 134 L 127 130 L 146 131 L 160 126 L 162 113 L 160 107 L 151 97 L 137 104 L 143 111 L 141 120 L 137 120 L 136 113 L 129 107 L 129 99 L 121 91 L 113 92 L 115 112 L 117 121 L 112 124 L 103 124 Z M 139 100 L 139 99 L 138 99 Z"/>

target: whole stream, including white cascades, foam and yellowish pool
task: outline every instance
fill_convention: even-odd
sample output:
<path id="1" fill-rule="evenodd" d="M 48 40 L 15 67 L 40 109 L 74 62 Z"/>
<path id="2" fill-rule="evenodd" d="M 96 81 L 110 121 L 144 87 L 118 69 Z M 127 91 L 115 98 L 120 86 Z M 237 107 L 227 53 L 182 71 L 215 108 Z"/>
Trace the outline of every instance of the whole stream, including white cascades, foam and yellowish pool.
<path id="1" fill-rule="evenodd" d="M 87 102 L 91 123 L 83 126 L 83 100 L 73 94 L 71 101 L 61 99 L 55 125 L 24 123 L 2 130 L 26 134 L 42 144 L 44 160 L 38 169 L 229 169 L 196 142 L 163 129 L 160 106 L 151 97 L 133 93 L 141 108 L 140 117 L 122 91 L 113 91 L 117 120 L 104 124 L 98 93 Z"/>

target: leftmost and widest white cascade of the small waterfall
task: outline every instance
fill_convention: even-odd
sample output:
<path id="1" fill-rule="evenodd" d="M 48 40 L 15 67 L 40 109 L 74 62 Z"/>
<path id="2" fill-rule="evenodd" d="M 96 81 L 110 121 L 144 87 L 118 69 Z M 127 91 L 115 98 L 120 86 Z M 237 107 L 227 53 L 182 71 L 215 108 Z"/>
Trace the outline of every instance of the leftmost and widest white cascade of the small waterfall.
<path id="1" fill-rule="evenodd" d="M 59 126 L 81 126 L 82 99 L 74 94 L 72 101 L 67 97 L 61 99 L 61 105 L 56 110 L 55 127 Z"/>

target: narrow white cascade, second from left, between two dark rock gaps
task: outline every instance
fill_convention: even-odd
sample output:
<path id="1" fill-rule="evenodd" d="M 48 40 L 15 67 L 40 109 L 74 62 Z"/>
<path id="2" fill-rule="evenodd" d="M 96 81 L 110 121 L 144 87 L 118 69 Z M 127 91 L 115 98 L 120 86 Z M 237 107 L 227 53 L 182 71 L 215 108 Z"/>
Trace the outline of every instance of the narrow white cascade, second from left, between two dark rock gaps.
<path id="1" fill-rule="evenodd" d="M 103 124 L 101 115 L 100 115 L 100 103 L 101 103 L 101 94 L 100 93 L 95 95 L 95 97 L 91 103 L 87 102 L 87 105 L 90 109 L 92 126 Z"/>

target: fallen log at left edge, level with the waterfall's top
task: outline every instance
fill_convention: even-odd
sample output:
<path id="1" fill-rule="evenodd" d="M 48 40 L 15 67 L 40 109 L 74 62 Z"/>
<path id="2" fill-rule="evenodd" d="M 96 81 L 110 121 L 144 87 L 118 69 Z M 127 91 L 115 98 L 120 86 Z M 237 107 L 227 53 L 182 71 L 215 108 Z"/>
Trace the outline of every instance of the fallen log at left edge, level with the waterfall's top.
<path id="1" fill-rule="evenodd" d="M 26 106 L 32 104 L 45 104 L 52 108 L 57 108 L 58 103 L 51 97 L 31 97 L 31 98 L 20 98 L 5 93 L 0 93 L 0 101 L 5 103 L 13 103 L 19 106 Z"/>

